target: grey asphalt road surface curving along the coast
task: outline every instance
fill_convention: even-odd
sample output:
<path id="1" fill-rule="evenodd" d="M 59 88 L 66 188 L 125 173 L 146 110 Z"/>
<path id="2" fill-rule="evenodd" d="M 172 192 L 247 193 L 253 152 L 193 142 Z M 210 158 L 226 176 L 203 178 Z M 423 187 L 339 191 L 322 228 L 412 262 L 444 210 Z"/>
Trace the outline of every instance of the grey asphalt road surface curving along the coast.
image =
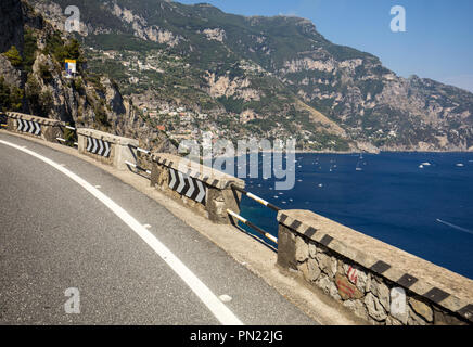
<path id="1" fill-rule="evenodd" d="M 1 132 L 149 228 L 244 324 L 317 324 L 163 206 L 80 158 Z M 67 288 L 80 313 L 66 313 Z M 0 324 L 219 324 L 122 219 L 64 174 L 0 143 Z"/>

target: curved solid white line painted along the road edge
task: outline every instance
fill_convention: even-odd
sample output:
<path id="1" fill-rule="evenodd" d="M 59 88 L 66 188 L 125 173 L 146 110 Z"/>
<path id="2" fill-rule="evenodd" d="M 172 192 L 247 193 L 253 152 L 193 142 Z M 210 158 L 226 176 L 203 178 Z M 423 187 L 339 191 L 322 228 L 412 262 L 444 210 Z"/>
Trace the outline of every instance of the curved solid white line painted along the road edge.
<path id="1" fill-rule="evenodd" d="M 156 239 L 149 230 L 146 230 L 138 220 L 131 217 L 124 208 L 117 205 L 108 196 L 97 190 L 92 184 L 62 167 L 57 163 L 37 154 L 30 150 L 26 150 L 20 145 L 0 140 L 0 143 L 14 147 L 26 154 L 29 154 L 46 164 L 52 166 L 57 171 L 66 175 L 73 181 L 81 185 L 90 194 L 108 207 L 118 218 L 120 218 L 128 227 L 131 228 L 166 264 L 186 282 L 192 292 L 204 303 L 217 320 L 223 325 L 243 325 L 237 316 L 220 301 L 220 299 L 159 240 Z"/>

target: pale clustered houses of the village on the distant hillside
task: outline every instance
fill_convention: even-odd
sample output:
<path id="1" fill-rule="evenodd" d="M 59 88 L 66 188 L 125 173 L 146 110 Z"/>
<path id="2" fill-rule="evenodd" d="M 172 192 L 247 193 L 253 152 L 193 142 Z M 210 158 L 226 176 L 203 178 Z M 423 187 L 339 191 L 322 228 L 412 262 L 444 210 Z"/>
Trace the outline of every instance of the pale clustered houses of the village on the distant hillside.
<path id="1" fill-rule="evenodd" d="M 149 119 L 157 130 L 165 132 L 170 139 L 177 142 L 202 140 L 203 132 L 212 133 L 214 141 L 226 139 L 235 142 L 242 133 L 251 137 L 252 132 L 244 129 L 239 129 L 243 131 L 235 133 L 235 128 L 258 119 L 259 115 L 253 110 L 244 110 L 239 115 L 228 113 L 225 110 L 207 113 L 186 104 L 179 104 L 175 100 L 172 102 L 163 101 L 162 95 L 150 91 L 149 86 L 157 85 L 156 80 L 159 79 L 159 75 L 166 74 L 166 68 L 162 68 L 159 65 L 169 62 L 167 55 L 159 52 L 145 55 L 135 54 L 135 52 L 125 50 L 100 50 L 93 47 L 86 47 L 85 51 L 92 69 L 95 66 L 103 67 L 110 64 L 123 66 L 123 72 L 126 75 L 124 79 L 127 81 L 128 88 L 120 86 L 120 90 L 129 93 L 128 97 L 142 117 Z M 189 64 L 181 64 L 179 61 L 179 56 L 174 56 L 172 63 L 189 68 Z M 260 72 L 260 67 L 257 65 L 248 64 L 245 68 L 248 72 Z M 175 85 L 174 88 L 179 89 L 182 86 Z M 230 124 L 233 126 L 229 126 Z M 264 137 L 286 138 L 287 134 L 285 131 L 274 129 L 264 133 Z M 307 137 L 306 140 L 308 139 Z M 315 144 L 316 142 L 308 141 L 308 143 Z"/>

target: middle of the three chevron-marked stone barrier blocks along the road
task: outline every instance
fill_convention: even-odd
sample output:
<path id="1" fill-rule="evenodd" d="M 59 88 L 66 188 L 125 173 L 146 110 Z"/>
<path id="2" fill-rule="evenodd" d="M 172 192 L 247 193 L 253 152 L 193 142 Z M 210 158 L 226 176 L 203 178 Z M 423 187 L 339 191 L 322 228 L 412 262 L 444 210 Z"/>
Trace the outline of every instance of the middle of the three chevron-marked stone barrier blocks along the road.
<path id="1" fill-rule="evenodd" d="M 80 154 L 93 157 L 119 170 L 129 169 L 125 162 L 137 163 L 138 140 L 80 128 L 77 129 L 77 143 Z"/>

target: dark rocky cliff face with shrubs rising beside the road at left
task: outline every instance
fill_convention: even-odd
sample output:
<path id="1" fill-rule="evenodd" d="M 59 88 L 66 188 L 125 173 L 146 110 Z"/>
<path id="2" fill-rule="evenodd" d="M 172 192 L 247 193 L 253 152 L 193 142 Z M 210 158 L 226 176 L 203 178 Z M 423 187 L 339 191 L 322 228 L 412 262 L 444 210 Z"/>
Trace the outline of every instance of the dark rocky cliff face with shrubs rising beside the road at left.
<path id="1" fill-rule="evenodd" d="M 2 2 L 2 5 L 5 3 Z M 7 89 L 23 94 L 15 108 L 79 127 L 137 138 L 143 146 L 153 150 L 176 151 L 162 132 L 146 123 L 128 100 L 124 100 L 111 78 L 87 73 L 77 40 L 65 31 L 56 30 L 29 3 L 15 1 L 11 5 L 2 10 L 16 11 L 16 20 L 10 21 L 11 35 L 3 41 L 4 47 L 13 44 L 23 52 L 22 64 L 13 66 L 5 54 L 1 55 L 0 78 Z M 64 59 L 77 60 L 78 74 L 74 78 L 66 77 Z M 0 103 L 3 102 L 0 100 Z M 11 108 L 12 102 L 1 106 Z"/>

